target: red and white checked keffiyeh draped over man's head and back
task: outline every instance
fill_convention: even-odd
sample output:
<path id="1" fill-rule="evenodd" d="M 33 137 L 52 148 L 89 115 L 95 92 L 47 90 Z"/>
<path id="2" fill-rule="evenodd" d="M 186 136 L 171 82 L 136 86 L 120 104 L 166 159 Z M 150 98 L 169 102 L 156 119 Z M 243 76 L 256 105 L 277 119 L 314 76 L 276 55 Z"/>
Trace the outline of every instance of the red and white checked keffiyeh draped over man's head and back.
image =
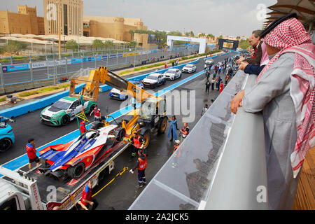
<path id="1" fill-rule="evenodd" d="M 293 71 L 290 74 L 290 97 L 296 112 L 297 142 L 290 156 L 293 177 L 300 172 L 309 148 L 315 146 L 315 45 L 309 33 L 296 18 L 281 22 L 262 38 L 267 45 L 280 51 L 272 57 L 260 72 L 256 81 L 270 66 L 286 52 L 295 53 Z"/>

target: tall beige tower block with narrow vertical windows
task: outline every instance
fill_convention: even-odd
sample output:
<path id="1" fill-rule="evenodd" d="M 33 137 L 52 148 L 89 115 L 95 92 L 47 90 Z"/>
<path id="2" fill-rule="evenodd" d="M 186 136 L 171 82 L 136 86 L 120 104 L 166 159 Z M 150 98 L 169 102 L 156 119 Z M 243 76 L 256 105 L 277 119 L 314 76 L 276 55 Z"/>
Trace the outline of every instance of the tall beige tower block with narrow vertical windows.
<path id="1" fill-rule="evenodd" d="M 62 35 L 83 36 L 82 0 L 43 0 L 43 10 L 45 35 L 58 34 L 60 16 Z"/>

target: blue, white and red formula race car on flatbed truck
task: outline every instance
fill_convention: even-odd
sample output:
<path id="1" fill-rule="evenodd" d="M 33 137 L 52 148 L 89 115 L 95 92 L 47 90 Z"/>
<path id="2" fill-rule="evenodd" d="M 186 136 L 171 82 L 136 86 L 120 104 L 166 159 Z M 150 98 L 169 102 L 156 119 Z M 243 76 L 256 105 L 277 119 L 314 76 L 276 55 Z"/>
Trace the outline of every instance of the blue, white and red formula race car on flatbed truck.
<path id="1" fill-rule="evenodd" d="M 48 146 L 41 150 L 45 176 L 62 181 L 67 177 L 79 179 L 98 160 L 113 153 L 112 148 L 125 137 L 125 130 L 117 125 L 107 125 L 99 130 L 87 130 L 66 144 Z"/>

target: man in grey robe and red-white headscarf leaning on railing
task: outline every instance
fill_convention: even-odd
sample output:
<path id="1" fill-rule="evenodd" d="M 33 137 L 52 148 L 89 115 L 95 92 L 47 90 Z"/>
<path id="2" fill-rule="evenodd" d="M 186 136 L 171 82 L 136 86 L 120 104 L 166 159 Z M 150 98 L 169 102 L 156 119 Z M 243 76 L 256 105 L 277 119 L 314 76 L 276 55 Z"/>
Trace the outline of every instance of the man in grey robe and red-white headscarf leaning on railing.
<path id="1" fill-rule="evenodd" d="M 293 209 L 299 171 L 315 146 L 315 45 L 295 13 L 272 22 L 261 37 L 270 61 L 230 109 L 262 111 L 269 209 Z"/>

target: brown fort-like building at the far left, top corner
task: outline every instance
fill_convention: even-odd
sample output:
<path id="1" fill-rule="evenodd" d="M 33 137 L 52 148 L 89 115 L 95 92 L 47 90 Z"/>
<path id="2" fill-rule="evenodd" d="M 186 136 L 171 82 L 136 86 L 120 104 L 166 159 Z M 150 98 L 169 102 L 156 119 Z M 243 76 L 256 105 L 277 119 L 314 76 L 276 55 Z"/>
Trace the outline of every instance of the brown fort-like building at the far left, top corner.
<path id="1" fill-rule="evenodd" d="M 0 11 L 0 33 L 44 34 L 44 18 L 38 17 L 36 7 L 18 6 L 18 13 Z"/>

